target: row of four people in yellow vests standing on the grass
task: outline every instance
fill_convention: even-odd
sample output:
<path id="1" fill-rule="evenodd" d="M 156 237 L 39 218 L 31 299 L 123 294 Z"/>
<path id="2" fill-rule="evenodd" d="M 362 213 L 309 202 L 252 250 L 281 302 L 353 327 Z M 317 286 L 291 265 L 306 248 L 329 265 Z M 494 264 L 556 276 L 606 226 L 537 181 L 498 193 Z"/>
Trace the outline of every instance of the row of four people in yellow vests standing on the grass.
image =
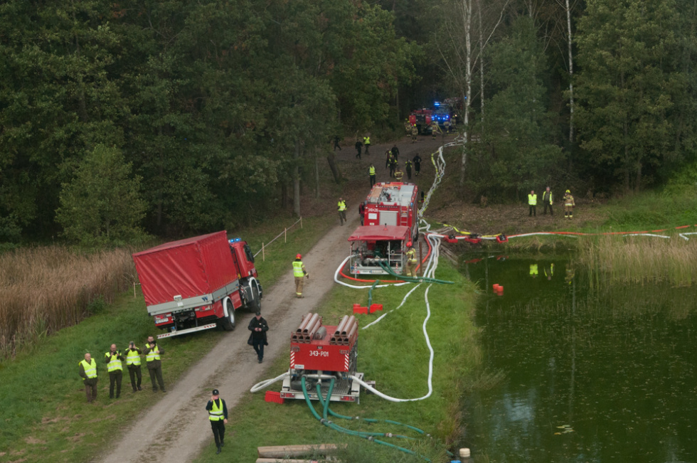
<path id="1" fill-rule="evenodd" d="M 113 399 L 121 396 L 124 362 L 128 368 L 133 392 L 142 390 L 141 355 L 145 355 L 145 363 L 150 373 L 153 392 L 157 392 L 158 385 L 162 392 L 166 392 L 164 380 L 162 379 L 160 358 L 162 354 L 164 354 L 164 350 L 157 346 L 153 336 L 148 337 L 147 344 L 143 350 L 137 348 L 134 341 L 129 343 L 125 353 L 119 351 L 116 344 L 112 344 L 110 350 L 104 354 L 104 361 L 107 364 L 107 372 L 109 373 L 109 398 Z M 84 360 L 78 362 L 78 374 L 80 378 L 83 378 L 87 402 L 92 403 L 97 398 L 97 380 L 99 375 L 97 362 L 89 352 L 85 353 Z"/>

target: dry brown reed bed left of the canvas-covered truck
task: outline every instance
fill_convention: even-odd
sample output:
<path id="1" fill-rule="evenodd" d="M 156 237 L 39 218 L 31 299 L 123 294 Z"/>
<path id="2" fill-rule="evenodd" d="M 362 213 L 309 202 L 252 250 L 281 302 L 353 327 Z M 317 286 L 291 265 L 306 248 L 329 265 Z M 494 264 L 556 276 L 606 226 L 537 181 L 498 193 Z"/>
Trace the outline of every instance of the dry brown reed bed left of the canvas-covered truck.
<path id="1" fill-rule="evenodd" d="M 51 246 L 0 255 L 0 358 L 96 312 L 136 278 L 129 250 Z"/>

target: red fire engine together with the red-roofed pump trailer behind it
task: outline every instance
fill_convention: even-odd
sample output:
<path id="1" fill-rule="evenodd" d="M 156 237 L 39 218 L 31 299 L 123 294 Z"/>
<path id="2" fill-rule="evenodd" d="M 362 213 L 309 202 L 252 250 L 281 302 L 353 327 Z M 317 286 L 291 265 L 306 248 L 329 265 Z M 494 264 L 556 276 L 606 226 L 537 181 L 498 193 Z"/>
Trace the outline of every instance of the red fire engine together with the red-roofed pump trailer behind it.
<path id="1" fill-rule="evenodd" d="M 418 187 L 413 183 L 376 183 L 366 198 L 363 226 L 349 238 L 353 275 L 401 275 L 408 245 L 419 238 Z"/>

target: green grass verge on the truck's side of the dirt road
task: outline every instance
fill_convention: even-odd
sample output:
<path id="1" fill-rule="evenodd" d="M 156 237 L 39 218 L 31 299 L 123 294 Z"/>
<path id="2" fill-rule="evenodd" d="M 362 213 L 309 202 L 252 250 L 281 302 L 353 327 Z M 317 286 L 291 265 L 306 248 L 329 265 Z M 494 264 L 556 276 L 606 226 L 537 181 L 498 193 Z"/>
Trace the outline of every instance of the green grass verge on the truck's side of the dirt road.
<path id="1" fill-rule="evenodd" d="M 326 229 L 334 225 L 335 217 L 303 220 L 302 230 L 288 233 L 269 248 L 266 261 L 257 260 L 263 275 L 262 283 L 269 287 L 287 271 L 288 262 L 297 252 L 307 252 Z M 292 223 L 292 222 L 289 222 Z M 269 241 L 289 223 L 267 223 L 250 235 L 252 246 Z M 258 248 L 256 248 L 258 249 Z M 261 256 L 259 256 L 261 257 Z M 73 262 L 70 257 L 66 259 Z M 41 254 L 38 255 L 41 262 Z M 39 265 L 26 262 L 27 269 Z M 78 265 L 78 263 L 75 263 Z M 81 265 L 81 264 L 80 264 Z M 4 275 L 13 280 L 13 273 Z M 62 280 L 61 280 L 62 281 Z M 131 282 L 129 282 L 130 284 Z M 58 297 L 63 283 L 41 287 L 51 297 Z M 16 288 L 26 294 L 27 288 Z M 26 291 L 23 293 L 23 291 Z M 0 363 L 0 462 L 85 462 L 100 452 L 107 442 L 127 427 L 142 410 L 162 397 L 148 388 L 132 394 L 127 373 L 124 375 L 122 398 L 109 400 L 109 382 L 102 356 L 112 343 L 121 349 L 128 341 L 142 345 L 154 326 L 145 311 L 142 295 L 134 299 L 132 289 L 121 292 L 112 304 L 98 304 L 100 313 L 75 326 L 61 329 L 52 336 L 38 336 L 28 348 L 20 349 L 16 358 Z M 181 336 L 164 339 L 164 380 L 175 383 L 188 366 L 208 353 L 221 336 L 239 336 L 238 331 L 225 333 L 208 331 L 206 336 Z M 99 398 L 96 405 L 87 405 L 82 382 L 78 377 L 78 361 L 90 351 L 100 365 Z M 144 385 L 149 385 L 144 371 Z"/>

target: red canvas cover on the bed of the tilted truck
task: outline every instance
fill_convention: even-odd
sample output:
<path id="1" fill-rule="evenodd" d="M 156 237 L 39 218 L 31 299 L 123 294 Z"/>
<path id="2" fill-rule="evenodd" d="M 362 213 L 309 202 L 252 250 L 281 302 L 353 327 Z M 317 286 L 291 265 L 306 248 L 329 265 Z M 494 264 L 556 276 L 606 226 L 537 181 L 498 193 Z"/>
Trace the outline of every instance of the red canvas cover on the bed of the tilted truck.
<path id="1" fill-rule="evenodd" d="M 133 260 L 148 307 L 211 294 L 238 279 L 225 231 L 165 243 Z"/>

